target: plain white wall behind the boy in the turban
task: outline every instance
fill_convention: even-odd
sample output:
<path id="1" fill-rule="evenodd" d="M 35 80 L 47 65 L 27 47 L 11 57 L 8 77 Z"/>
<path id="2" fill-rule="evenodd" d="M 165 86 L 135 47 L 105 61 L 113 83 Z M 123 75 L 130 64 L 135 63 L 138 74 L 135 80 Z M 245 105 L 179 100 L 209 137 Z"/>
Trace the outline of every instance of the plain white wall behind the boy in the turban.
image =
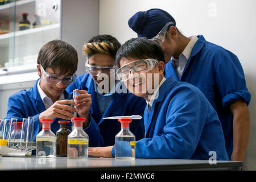
<path id="1" fill-rule="evenodd" d="M 137 11 L 166 10 L 184 35 L 204 35 L 209 42 L 235 53 L 245 72 L 252 97 L 249 105 L 251 132 L 244 169 L 256 169 L 256 1 L 255 0 L 100 0 L 100 34 L 124 43 L 137 37 L 128 26 Z M 228 73 L 227 73 L 228 74 Z"/>

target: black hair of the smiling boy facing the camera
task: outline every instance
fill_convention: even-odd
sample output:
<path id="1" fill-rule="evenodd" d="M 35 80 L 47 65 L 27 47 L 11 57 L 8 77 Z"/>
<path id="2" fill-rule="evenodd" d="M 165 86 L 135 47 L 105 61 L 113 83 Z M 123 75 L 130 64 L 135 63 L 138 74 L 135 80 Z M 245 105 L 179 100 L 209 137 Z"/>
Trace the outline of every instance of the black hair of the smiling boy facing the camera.
<path id="1" fill-rule="evenodd" d="M 125 42 L 117 51 L 115 63 L 118 67 L 120 67 L 120 60 L 122 57 L 156 59 L 165 63 L 162 47 L 160 47 L 158 43 L 147 38 L 133 38 L 127 40 L 127 42 Z"/>

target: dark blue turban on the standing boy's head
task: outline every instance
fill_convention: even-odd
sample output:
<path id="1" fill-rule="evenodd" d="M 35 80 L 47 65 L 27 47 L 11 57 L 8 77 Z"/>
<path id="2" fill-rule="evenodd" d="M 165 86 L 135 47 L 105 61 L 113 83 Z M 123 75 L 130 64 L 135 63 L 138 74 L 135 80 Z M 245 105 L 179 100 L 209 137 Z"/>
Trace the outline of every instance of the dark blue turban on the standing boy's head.
<path id="1" fill-rule="evenodd" d="M 128 20 L 129 27 L 137 33 L 138 37 L 146 37 L 148 39 L 156 36 L 169 22 L 174 22 L 172 25 L 176 26 L 175 19 L 161 9 L 138 11 Z"/>

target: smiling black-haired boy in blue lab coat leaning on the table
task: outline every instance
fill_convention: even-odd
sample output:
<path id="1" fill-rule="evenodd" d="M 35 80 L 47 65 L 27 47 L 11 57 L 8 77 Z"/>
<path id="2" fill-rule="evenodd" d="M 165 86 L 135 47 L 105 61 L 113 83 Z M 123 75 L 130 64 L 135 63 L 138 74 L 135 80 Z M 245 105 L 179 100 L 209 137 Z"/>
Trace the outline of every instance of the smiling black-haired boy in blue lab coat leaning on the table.
<path id="1" fill-rule="evenodd" d="M 136 158 L 208 160 L 214 151 L 217 160 L 229 160 L 216 111 L 195 86 L 165 78 L 163 60 L 159 44 L 146 38 L 128 40 L 117 52 L 119 78 L 147 101 L 146 137 L 135 142 Z M 114 148 L 90 147 L 89 155 L 114 156 Z"/>

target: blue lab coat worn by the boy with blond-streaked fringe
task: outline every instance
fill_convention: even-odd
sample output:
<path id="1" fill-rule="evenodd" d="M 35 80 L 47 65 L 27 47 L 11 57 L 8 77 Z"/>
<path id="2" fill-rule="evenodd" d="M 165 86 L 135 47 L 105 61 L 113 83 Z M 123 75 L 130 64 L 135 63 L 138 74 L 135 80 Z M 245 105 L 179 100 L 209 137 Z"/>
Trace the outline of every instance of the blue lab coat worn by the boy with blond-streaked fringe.
<path id="1" fill-rule="evenodd" d="M 72 92 L 74 89 L 87 90 L 92 97 L 92 106 L 90 107 L 90 123 L 96 124 L 100 133 L 95 135 L 101 135 L 104 143 L 101 146 L 113 146 L 115 135 L 121 130 L 121 123 L 117 119 L 103 119 L 104 117 L 120 116 L 120 115 L 141 115 L 143 116 L 144 107 L 146 106 L 146 101 L 137 97 L 134 94 L 128 92 L 126 93 L 114 93 L 112 101 L 110 101 L 109 106 L 105 110 L 105 113 L 101 115 L 96 92 L 94 92 L 93 78 L 89 73 L 84 73 L 77 77 L 74 84 L 69 85 L 67 92 Z M 136 140 L 144 137 L 144 126 L 143 119 L 134 119 L 130 123 L 130 130 L 135 135 Z"/>

